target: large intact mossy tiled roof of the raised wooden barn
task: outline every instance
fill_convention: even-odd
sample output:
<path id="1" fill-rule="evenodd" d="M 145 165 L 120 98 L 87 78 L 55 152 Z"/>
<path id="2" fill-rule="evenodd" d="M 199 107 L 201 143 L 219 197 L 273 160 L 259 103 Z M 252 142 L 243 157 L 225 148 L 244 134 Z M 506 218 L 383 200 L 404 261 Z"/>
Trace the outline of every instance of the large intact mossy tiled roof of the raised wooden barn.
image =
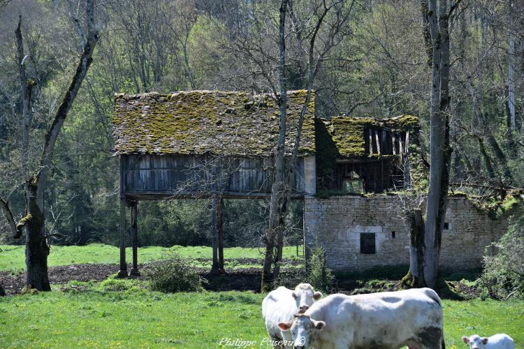
<path id="1" fill-rule="evenodd" d="M 306 92 L 289 91 L 286 154 L 291 154 Z M 277 149 L 279 107 L 270 95 L 180 91 L 115 94 L 115 154 L 267 156 Z M 300 155 L 314 154 L 314 94 L 305 116 Z"/>

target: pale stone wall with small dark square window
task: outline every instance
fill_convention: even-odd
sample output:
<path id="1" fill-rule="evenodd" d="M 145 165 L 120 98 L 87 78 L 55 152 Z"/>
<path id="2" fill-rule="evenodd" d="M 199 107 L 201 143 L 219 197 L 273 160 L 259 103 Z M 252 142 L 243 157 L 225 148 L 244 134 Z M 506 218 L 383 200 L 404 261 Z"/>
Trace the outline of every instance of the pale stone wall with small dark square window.
<path id="1" fill-rule="evenodd" d="M 305 198 L 305 244 L 323 246 L 328 267 L 334 270 L 408 264 L 409 229 L 400 212 L 402 200 L 393 195 Z M 467 198 L 450 197 L 441 266 L 457 270 L 481 266 L 484 248 L 506 232 L 509 215 L 493 220 Z M 374 254 L 361 253 L 365 232 L 374 233 Z"/>

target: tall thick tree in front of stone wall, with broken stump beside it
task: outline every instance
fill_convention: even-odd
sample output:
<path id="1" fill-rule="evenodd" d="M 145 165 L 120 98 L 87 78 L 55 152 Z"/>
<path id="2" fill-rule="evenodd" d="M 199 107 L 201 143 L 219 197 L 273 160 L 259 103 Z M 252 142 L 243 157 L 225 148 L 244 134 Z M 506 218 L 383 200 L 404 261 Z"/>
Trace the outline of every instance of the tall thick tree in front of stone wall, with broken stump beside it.
<path id="1" fill-rule="evenodd" d="M 412 211 L 409 275 L 412 285 L 435 288 L 449 188 L 449 20 L 460 0 L 421 0 L 423 36 L 431 67 L 430 184 L 425 223 Z"/>

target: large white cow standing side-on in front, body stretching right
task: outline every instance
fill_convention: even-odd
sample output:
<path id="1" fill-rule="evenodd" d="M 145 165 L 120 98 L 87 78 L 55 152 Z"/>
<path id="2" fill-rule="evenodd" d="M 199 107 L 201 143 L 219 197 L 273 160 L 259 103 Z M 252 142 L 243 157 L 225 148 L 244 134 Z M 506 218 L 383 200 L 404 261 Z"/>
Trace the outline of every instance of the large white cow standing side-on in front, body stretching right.
<path id="1" fill-rule="evenodd" d="M 278 325 L 295 348 L 445 348 L 442 306 L 430 288 L 329 295 Z"/>

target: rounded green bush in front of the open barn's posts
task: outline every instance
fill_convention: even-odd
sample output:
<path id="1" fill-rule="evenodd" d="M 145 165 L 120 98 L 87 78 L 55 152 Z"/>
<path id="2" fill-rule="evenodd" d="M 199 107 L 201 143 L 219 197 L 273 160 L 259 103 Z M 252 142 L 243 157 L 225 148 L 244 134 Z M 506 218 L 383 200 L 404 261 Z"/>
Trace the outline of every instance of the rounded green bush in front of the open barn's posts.
<path id="1" fill-rule="evenodd" d="M 188 258 L 182 258 L 173 251 L 164 254 L 162 260 L 148 265 L 143 274 L 151 290 L 161 292 L 200 292 L 205 280 L 191 267 Z"/>

